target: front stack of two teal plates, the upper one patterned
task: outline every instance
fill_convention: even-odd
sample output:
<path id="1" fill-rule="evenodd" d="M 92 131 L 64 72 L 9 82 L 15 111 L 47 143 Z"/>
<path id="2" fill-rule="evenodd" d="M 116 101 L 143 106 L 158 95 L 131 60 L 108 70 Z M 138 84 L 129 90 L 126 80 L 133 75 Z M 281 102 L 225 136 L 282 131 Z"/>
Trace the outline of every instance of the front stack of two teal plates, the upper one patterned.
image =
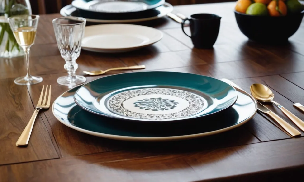
<path id="1" fill-rule="evenodd" d="M 133 72 L 76 86 L 53 103 L 54 116 L 83 133 L 129 141 L 197 138 L 236 128 L 257 111 L 246 92 L 208 76 Z"/>

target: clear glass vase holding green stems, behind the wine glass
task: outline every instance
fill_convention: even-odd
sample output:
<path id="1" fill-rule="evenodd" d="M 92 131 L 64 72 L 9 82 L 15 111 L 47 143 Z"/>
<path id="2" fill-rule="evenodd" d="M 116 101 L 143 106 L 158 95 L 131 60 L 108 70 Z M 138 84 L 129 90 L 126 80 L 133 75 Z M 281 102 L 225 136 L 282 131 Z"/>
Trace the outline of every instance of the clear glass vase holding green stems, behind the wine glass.
<path id="1" fill-rule="evenodd" d="M 0 0 L 0 57 L 12 58 L 24 55 L 16 42 L 7 18 L 26 14 L 32 14 L 29 0 Z"/>

